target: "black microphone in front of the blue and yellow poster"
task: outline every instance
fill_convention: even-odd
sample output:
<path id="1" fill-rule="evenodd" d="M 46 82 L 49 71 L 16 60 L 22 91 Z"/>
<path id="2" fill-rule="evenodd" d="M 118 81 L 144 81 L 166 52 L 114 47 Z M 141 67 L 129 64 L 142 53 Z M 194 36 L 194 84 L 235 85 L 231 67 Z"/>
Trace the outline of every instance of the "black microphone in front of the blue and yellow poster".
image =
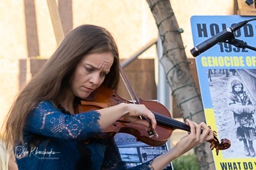
<path id="1" fill-rule="evenodd" d="M 228 27 L 227 29 L 219 32 L 215 36 L 212 36 L 209 39 L 206 39 L 204 42 L 200 43 L 198 46 L 195 46 L 190 50 L 193 57 L 198 56 L 200 53 L 205 52 L 206 50 L 209 50 L 212 48 L 212 46 L 216 45 L 217 43 L 223 43 L 224 41 L 227 41 L 230 38 L 234 37 L 234 32 L 237 31 L 237 29 L 241 29 L 247 22 L 250 20 L 244 20 L 242 22 L 239 22 L 237 24 L 234 24 L 231 27 Z"/>

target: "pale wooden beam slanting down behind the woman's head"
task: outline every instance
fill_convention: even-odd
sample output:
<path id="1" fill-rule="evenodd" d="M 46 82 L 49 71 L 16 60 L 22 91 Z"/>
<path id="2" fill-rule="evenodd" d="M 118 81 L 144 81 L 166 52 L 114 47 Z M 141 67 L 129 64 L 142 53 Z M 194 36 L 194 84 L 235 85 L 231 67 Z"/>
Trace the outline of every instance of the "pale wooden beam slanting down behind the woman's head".
<path id="1" fill-rule="evenodd" d="M 60 20 L 60 13 L 58 10 L 58 6 L 55 0 L 47 0 L 47 5 L 48 5 L 49 13 L 51 16 L 52 27 L 53 27 L 54 35 L 56 38 L 56 43 L 57 43 L 57 46 L 59 46 L 60 43 L 65 38 L 65 36 L 64 36 L 63 27 Z"/>

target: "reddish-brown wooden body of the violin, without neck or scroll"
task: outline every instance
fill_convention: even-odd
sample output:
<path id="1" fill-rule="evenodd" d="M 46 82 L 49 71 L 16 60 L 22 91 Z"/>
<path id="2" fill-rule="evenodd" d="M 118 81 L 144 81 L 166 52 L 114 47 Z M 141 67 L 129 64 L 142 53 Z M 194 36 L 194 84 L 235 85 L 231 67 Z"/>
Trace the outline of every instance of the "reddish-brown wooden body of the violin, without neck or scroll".
<path id="1" fill-rule="evenodd" d="M 101 95 L 102 92 L 104 92 L 103 96 Z M 91 110 L 99 110 L 101 108 L 111 107 L 111 106 L 115 106 L 116 104 L 126 102 L 121 97 L 117 96 L 116 94 L 113 94 L 113 90 L 108 89 L 108 87 L 104 85 L 101 85 L 97 89 L 97 94 L 100 94 L 100 95 L 99 96 L 97 95 L 95 99 L 93 99 L 93 102 L 81 101 L 81 105 L 79 106 L 78 112 L 83 113 Z M 100 103 L 100 98 L 102 97 L 108 100 L 105 100 L 104 103 Z M 154 108 L 154 105 L 156 106 L 156 104 L 159 104 L 156 101 L 142 101 L 141 99 L 140 99 L 140 102 L 141 104 L 145 104 L 148 110 L 151 110 L 151 111 L 155 111 L 156 108 Z M 170 117 L 169 111 L 164 106 L 161 108 L 161 110 L 163 110 L 163 112 L 161 113 L 167 113 L 165 114 L 166 117 Z M 156 136 L 152 136 L 150 138 L 150 135 L 148 134 L 148 131 L 147 131 L 149 129 L 146 130 L 145 128 L 146 128 L 145 125 L 133 124 L 133 123 L 127 122 L 127 120 L 124 117 L 121 117 L 118 119 L 118 121 L 116 121 L 106 129 L 104 129 L 103 132 L 105 133 L 104 135 L 105 137 L 114 137 L 115 134 L 119 132 L 127 133 L 127 134 L 131 134 L 132 136 L 135 136 L 137 141 L 141 141 L 143 143 L 146 143 L 147 145 L 161 146 L 170 138 L 173 131 L 172 127 L 166 127 L 165 125 L 157 124 L 156 131 L 158 132 L 159 137 L 157 138 Z"/>

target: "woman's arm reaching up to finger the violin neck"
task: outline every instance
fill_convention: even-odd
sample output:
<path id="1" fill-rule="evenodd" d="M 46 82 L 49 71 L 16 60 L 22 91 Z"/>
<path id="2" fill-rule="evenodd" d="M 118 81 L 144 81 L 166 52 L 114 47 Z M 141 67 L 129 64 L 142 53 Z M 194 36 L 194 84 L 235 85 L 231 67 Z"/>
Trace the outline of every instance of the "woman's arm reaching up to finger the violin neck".
<path id="1" fill-rule="evenodd" d="M 173 159 L 195 148 L 195 146 L 200 145 L 204 141 L 213 139 L 213 132 L 206 124 L 201 123 L 198 125 L 195 122 L 187 120 L 187 125 L 191 128 L 191 133 L 180 139 L 177 145 L 171 150 L 139 166 L 134 166 L 131 169 L 152 169 L 152 167 L 154 167 L 154 169 L 164 169 Z M 204 131 L 201 134 L 202 128 Z M 105 155 L 102 169 L 111 169 L 111 167 L 113 169 L 125 169 L 125 164 L 120 157 L 114 139 L 108 139 Z"/>

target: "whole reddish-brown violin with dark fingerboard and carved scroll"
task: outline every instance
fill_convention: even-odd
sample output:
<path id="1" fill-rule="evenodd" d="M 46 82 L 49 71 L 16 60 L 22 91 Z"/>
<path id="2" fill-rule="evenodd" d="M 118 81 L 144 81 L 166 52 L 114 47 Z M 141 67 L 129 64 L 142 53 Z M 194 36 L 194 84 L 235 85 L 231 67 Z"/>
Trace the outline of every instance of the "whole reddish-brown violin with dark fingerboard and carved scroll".
<path id="1" fill-rule="evenodd" d="M 102 108 L 108 108 L 120 103 L 130 103 L 116 94 L 116 90 L 109 89 L 105 85 L 95 90 L 94 96 L 89 97 L 86 100 L 81 100 L 80 104 L 76 107 L 76 113 L 84 113 L 86 111 L 100 110 Z M 180 122 L 171 117 L 168 109 L 163 104 L 156 101 L 148 101 L 140 99 L 140 104 L 144 104 L 148 110 L 154 113 L 157 126 L 154 131 L 145 127 L 145 125 L 134 124 L 128 122 L 124 117 L 119 118 L 104 129 L 102 132 L 104 135 L 101 138 L 114 137 L 116 133 L 127 133 L 136 137 L 137 141 L 141 141 L 150 146 L 161 146 L 172 136 L 172 132 L 175 129 L 181 129 L 190 132 L 189 125 L 184 122 Z M 144 118 L 145 119 L 145 118 Z M 203 129 L 202 129 L 203 131 Z M 157 133 L 156 133 L 157 132 Z M 211 143 L 210 149 L 216 148 L 216 154 L 219 150 L 226 150 L 230 147 L 230 141 L 228 139 L 221 139 L 221 142 L 217 138 L 216 131 L 214 131 L 214 139 L 208 141 Z"/>

